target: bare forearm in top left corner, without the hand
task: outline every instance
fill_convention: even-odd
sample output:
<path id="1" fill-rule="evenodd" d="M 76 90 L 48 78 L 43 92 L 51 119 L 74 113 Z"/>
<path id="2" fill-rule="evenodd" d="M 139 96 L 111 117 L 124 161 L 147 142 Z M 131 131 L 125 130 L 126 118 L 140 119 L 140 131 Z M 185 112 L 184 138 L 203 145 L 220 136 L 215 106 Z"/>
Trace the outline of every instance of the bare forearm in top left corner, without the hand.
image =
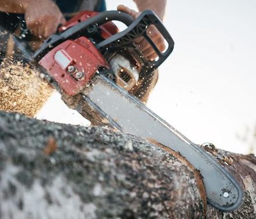
<path id="1" fill-rule="evenodd" d="M 9 13 L 24 13 L 31 1 L 37 0 L 1 0 L 0 11 Z"/>

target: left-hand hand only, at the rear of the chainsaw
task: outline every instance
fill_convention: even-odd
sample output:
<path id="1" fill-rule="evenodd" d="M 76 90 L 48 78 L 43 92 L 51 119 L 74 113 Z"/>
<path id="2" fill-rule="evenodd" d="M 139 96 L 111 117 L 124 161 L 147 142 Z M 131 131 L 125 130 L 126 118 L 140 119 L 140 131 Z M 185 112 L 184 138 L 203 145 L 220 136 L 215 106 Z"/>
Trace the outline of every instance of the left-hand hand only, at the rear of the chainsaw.
<path id="1" fill-rule="evenodd" d="M 25 10 L 25 20 L 27 28 L 40 39 L 54 34 L 59 24 L 66 21 L 61 10 L 51 0 L 30 1 Z"/>

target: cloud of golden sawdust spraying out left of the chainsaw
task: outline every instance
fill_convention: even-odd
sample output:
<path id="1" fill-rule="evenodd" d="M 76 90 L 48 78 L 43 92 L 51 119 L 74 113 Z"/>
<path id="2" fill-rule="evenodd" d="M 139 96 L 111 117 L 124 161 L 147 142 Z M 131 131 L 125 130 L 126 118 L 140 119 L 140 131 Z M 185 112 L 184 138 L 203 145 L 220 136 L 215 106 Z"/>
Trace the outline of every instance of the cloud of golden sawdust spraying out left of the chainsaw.
<path id="1" fill-rule="evenodd" d="M 29 64 L 5 57 L 0 65 L 0 110 L 33 117 L 52 88 Z"/>

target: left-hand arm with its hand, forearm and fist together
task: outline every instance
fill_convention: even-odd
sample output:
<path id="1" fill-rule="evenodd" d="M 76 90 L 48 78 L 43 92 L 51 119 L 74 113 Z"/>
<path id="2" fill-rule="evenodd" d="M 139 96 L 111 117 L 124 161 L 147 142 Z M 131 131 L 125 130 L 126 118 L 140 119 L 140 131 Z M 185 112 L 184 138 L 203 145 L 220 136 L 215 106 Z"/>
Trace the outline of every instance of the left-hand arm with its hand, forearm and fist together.
<path id="1" fill-rule="evenodd" d="M 22 13 L 29 30 L 38 38 L 48 38 L 65 22 L 58 6 L 51 0 L 1 0 L 0 10 Z"/>

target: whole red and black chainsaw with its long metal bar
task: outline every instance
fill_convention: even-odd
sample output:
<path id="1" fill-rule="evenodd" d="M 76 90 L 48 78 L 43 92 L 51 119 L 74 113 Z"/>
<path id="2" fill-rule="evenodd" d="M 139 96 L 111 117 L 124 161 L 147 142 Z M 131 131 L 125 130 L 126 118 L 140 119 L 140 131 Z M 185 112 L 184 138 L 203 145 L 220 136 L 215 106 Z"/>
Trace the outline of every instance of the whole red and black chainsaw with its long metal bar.
<path id="1" fill-rule="evenodd" d="M 119 31 L 113 20 L 127 27 Z M 162 34 L 164 50 L 159 50 L 148 34 L 152 26 Z M 136 43 L 138 38 L 148 42 L 156 59 L 147 60 Z M 136 20 L 118 11 L 81 12 L 59 27 L 33 56 L 24 41 L 15 41 L 69 107 L 94 123 L 154 139 L 179 152 L 200 171 L 209 204 L 223 211 L 240 206 L 243 195 L 239 183 L 214 156 L 159 118 L 130 92 L 140 79 L 150 77 L 173 50 L 173 39 L 154 12 L 145 10 Z M 147 88 L 143 84 L 140 87 L 144 89 L 141 93 Z"/>

